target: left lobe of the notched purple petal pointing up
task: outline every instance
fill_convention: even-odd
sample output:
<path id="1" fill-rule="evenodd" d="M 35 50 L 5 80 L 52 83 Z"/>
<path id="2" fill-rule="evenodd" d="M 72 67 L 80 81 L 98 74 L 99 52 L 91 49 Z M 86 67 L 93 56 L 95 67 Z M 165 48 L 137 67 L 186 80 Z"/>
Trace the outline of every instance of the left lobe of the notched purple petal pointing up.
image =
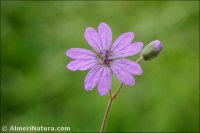
<path id="1" fill-rule="evenodd" d="M 102 50 L 101 41 L 95 29 L 92 27 L 86 28 L 84 36 L 94 50 L 96 50 L 98 53 Z"/>

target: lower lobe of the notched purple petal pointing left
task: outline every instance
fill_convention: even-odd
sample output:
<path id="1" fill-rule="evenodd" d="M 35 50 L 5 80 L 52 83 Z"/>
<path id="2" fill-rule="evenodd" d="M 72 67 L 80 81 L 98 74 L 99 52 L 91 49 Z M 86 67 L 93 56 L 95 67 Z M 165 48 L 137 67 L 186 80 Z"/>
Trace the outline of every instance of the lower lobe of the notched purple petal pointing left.
<path id="1" fill-rule="evenodd" d="M 98 63 L 98 60 L 74 60 L 67 65 L 67 68 L 71 71 L 84 71 L 96 66 Z"/>

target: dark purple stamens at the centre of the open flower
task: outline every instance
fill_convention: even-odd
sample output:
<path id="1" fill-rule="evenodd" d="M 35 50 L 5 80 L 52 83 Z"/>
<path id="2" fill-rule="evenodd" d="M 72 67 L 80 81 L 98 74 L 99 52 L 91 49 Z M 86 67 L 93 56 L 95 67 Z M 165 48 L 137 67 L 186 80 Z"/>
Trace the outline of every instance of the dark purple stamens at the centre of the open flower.
<path id="1" fill-rule="evenodd" d="M 111 56 L 110 50 L 102 50 L 100 51 L 101 54 L 101 63 L 105 64 L 106 66 L 110 66 L 110 63 L 112 62 L 112 59 L 109 59 Z"/>

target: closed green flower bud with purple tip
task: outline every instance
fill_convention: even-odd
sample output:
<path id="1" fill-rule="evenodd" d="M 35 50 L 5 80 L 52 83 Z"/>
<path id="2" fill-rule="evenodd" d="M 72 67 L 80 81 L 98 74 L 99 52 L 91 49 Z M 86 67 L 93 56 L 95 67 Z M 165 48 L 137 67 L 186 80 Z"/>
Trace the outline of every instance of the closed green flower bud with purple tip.
<path id="1" fill-rule="evenodd" d="M 159 40 L 155 40 L 148 44 L 141 52 L 140 56 L 144 60 L 151 60 L 156 57 L 162 50 L 163 45 Z"/>

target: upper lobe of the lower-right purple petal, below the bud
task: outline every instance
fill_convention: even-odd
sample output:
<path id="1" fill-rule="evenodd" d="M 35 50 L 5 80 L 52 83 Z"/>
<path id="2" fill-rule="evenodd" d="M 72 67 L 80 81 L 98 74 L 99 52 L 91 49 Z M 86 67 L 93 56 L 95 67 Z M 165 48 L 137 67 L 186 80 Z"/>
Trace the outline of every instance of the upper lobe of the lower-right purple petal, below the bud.
<path id="1" fill-rule="evenodd" d="M 126 70 L 127 72 L 129 72 L 133 75 L 141 75 L 142 74 L 141 66 L 138 63 L 133 62 L 128 59 L 116 60 L 114 62 L 114 65 Z"/>

